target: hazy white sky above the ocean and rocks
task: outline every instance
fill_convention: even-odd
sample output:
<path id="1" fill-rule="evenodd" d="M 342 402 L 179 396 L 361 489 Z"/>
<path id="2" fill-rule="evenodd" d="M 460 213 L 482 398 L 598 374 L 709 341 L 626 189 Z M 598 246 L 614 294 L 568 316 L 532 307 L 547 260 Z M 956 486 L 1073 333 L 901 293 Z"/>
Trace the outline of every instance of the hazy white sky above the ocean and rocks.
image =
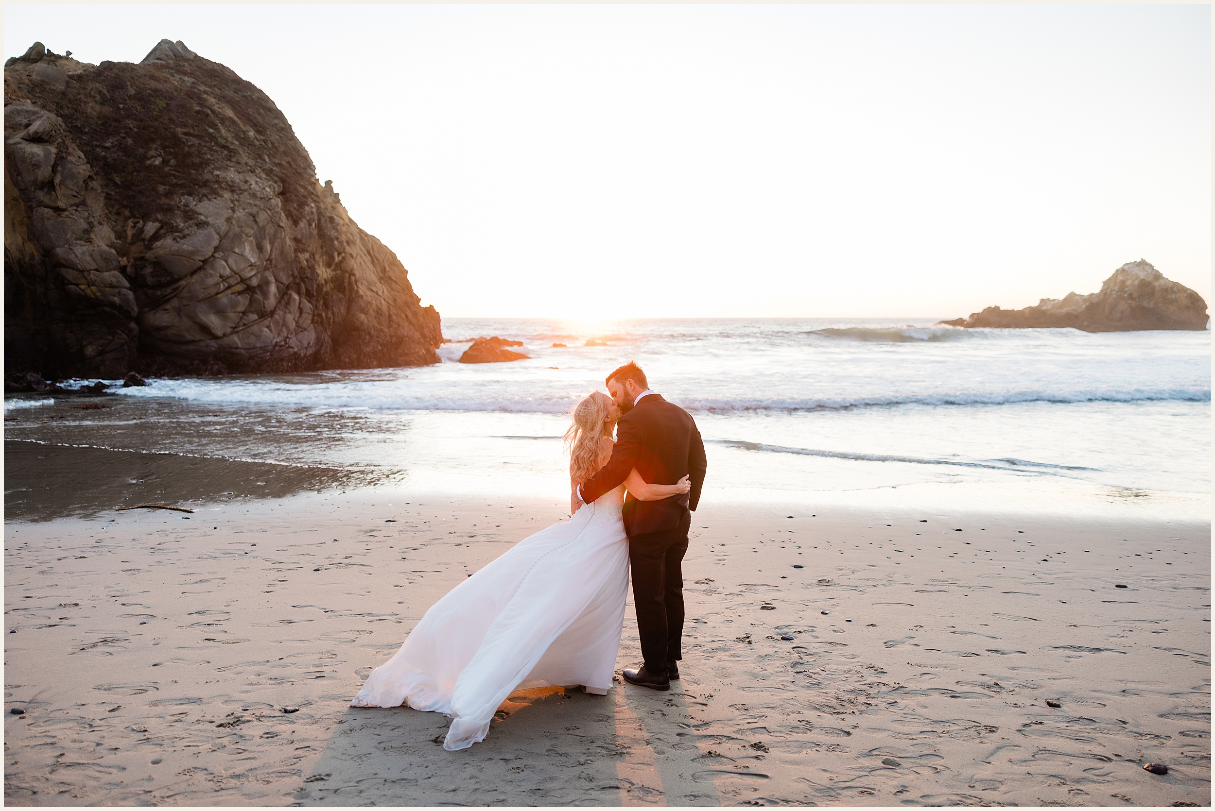
<path id="1" fill-rule="evenodd" d="M 446 317 L 955 317 L 1141 257 L 1210 300 L 1209 6 L 4 13 L 256 84 Z"/>

